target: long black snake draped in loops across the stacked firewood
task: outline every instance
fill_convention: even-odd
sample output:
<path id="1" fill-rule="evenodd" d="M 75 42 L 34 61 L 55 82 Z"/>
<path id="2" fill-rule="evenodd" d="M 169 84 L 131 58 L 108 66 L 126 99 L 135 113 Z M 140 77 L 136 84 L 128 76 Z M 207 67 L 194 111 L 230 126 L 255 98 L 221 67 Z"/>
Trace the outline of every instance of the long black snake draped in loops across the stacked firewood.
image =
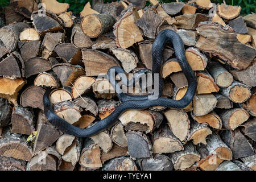
<path id="1" fill-rule="evenodd" d="M 181 100 L 171 100 L 169 98 L 161 98 L 164 82 L 163 78 L 159 76 L 159 93 L 158 97 L 153 100 L 148 100 L 148 95 L 143 96 L 130 96 L 125 93 L 117 94 L 121 104 L 117 106 L 112 114 L 110 114 L 105 119 L 102 119 L 100 122 L 97 122 L 93 126 L 80 129 L 79 127 L 73 126 L 66 122 L 64 119 L 58 117 L 51 106 L 51 102 L 49 101 L 49 92 L 48 89 L 43 96 L 44 103 L 44 114 L 49 122 L 55 125 L 58 129 L 63 131 L 66 134 L 73 135 L 75 137 L 91 137 L 92 135 L 96 135 L 101 131 L 108 129 L 110 126 L 114 125 L 118 121 L 119 115 L 121 115 L 124 111 L 129 109 L 146 109 L 152 106 L 166 106 L 166 107 L 174 107 L 174 108 L 183 108 L 187 106 L 193 99 L 196 93 L 197 81 L 195 73 L 192 71 L 190 65 L 187 62 L 185 57 L 184 44 L 179 35 L 176 34 L 175 31 L 172 30 L 164 30 L 156 36 L 155 41 L 152 45 L 152 60 L 153 60 L 153 68 L 152 68 L 152 76 L 154 77 L 155 73 L 160 73 L 160 69 L 162 67 L 162 51 L 164 44 L 167 41 L 171 41 L 174 46 L 174 51 L 177 60 L 179 61 L 180 67 L 183 70 L 185 77 L 188 80 L 188 89 L 185 93 L 184 97 Z M 114 73 L 124 73 L 124 71 L 119 67 L 110 68 L 110 70 L 114 70 Z M 108 72 L 109 81 L 113 76 L 110 75 L 110 70 Z M 160 74 L 159 74 L 160 75 Z M 127 79 L 126 79 L 127 80 Z M 127 84 L 126 80 L 121 80 L 123 84 Z M 117 84 L 115 81 L 110 81 L 110 83 L 114 86 Z M 152 94 L 152 93 L 151 93 Z"/>

